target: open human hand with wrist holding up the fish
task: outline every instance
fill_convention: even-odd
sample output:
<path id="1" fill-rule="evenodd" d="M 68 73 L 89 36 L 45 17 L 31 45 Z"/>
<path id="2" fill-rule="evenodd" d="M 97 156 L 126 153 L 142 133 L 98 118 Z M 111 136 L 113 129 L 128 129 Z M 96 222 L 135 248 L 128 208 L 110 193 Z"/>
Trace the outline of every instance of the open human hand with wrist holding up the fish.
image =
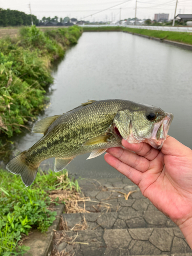
<path id="1" fill-rule="evenodd" d="M 192 247 L 192 150 L 169 136 L 161 151 L 144 142 L 122 145 L 109 148 L 105 161 L 138 185 Z"/>

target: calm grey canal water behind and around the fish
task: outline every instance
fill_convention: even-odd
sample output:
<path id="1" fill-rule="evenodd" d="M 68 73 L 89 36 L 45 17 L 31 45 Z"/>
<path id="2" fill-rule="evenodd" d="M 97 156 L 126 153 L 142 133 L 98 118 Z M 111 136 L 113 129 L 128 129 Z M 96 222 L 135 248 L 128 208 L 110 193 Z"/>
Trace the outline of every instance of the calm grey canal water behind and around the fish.
<path id="1" fill-rule="evenodd" d="M 46 116 L 62 114 L 87 99 L 127 99 L 159 106 L 174 114 L 169 135 L 192 148 L 192 52 L 122 32 L 86 32 L 53 71 Z M 42 135 L 15 137 L 19 151 Z M 87 178 L 122 176 L 103 155 L 76 157 L 67 168 Z M 54 159 L 44 161 L 53 168 Z"/>

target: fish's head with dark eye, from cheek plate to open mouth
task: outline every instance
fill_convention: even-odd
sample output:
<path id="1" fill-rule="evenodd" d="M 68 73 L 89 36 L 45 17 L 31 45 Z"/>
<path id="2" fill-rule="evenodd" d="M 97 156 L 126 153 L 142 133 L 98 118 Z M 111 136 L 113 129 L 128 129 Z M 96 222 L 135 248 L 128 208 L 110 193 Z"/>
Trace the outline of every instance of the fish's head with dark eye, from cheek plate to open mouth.
<path id="1" fill-rule="evenodd" d="M 173 114 L 150 105 L 143 105 L 132 113 L 130 133 L 126 140 L 129 143 L 143 141 L 160 149 L 166 139 Z"/>

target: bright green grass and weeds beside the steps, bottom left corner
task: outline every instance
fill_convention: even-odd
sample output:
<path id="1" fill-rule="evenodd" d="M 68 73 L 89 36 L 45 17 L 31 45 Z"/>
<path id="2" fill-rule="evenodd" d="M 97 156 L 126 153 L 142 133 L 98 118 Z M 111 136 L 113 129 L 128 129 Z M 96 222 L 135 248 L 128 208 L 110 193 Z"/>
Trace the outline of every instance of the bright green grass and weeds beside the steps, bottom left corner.
<path id="1" fill-rule="evenodd" d="M 57 177 L 62 175 L 60 182 Z M 66 171 L 55 174 L 37 173 L 32 186 L 26 187 L 18 175 L 0 169 L 0 255 L 23 255 L 29 247 L 19 246 L 23 234 L 31 228 L 45 232 L 55 220 L 50 211 L 49 190 L 64 188 L 79 191 L 77 180 Z M 57 200 L 56 200 L 57 201 Z M 65 202 L 63 202 L 65 203 Z M 56 202 L 55 202 L 56 204 Z"/>

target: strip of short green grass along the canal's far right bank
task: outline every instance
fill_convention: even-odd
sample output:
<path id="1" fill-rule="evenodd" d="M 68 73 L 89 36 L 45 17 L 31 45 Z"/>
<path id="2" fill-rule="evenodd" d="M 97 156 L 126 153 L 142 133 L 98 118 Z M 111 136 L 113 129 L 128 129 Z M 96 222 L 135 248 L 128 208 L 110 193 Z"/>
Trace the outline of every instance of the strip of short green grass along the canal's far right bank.
<path id="1" fill-rule="evenodd" d="M 123 27 L 83 27 L 83 31 L 128 31 L 131 33 L 137 33 L 147 35 L 151 37 L 163 38 L 170 41 L 183 42 L 184 44 L 192 45 L 192 34 L 187 32 L 172 32 L 161 30 L 148 30 L 148 29 L 135 29 L 135 28 L 123 28 Z"/>

